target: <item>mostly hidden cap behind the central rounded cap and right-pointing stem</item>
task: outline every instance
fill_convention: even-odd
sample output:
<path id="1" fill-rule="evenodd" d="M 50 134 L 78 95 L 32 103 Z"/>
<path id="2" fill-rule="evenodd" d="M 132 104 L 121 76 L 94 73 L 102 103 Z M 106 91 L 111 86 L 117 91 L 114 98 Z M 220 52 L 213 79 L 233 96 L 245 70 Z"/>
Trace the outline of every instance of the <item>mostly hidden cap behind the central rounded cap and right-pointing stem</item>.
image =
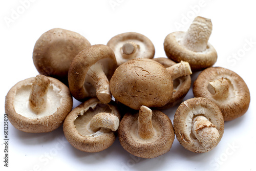
<path id="1" fill-rule="evenodd" d="M 153 58 L 153 60 L 161 63 L 161 65 L 164 66 L 164 68 L 171 67 L 176 64 L 175 61 L 172 61 L 168 58 L 159 57 L 159 58 Z M 179 78 L 176 78 L 173 80 L 174 84 L 174 92 L 173 97 L 170 99 L 170 101 L 165 104 L 164 106 L 158 108 L 158 109 L 168 109 L 172 106 L 178 104 L 181 102 L 181 100 L 186 96 L 187 92 L 190 89 L 191 86 L 191 77 L 190 75 L 182 76 Z"/>

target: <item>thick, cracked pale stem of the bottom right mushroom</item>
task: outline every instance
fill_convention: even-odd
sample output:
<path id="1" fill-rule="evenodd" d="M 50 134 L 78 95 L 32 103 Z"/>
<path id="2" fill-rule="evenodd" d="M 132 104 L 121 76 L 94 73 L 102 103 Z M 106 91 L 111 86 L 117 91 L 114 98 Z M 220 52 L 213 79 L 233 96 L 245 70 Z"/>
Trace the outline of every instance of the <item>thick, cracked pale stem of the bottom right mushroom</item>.
<path id="1" fill-rule="evenodd" d="M 192 133 L 207 150 L 213 148 L 220 137 L 216 126 L 204 116 L 197 116 L 193 119 Z"/>

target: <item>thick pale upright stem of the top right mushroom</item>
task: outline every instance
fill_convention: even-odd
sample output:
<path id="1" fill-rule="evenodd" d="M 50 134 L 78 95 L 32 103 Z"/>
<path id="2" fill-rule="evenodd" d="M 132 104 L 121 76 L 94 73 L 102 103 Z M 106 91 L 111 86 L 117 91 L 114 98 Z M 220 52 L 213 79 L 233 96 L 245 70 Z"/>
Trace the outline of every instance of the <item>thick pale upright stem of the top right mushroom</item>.
<path id="1" fill-rule="evenodd" d="M 191 51 L 203 52 L 206 50 L 211 31 L 211 20 L 197 16 L 185 33 L 181 43 Z"/>

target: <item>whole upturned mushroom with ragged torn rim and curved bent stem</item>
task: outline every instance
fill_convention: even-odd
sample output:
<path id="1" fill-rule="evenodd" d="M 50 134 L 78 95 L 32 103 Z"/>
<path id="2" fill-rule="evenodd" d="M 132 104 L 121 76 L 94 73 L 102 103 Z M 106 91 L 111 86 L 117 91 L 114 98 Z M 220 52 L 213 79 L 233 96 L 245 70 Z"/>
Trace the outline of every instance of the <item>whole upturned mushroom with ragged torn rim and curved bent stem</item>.
<path id="1" fill-rule="evenodd" d="M 70 144 L 80 151 L 100 152 L 114 143 L 119 120 L 114 101 L 103 104 L 91 98 L 70 112 L 63 123 L 63 132 Z"/>

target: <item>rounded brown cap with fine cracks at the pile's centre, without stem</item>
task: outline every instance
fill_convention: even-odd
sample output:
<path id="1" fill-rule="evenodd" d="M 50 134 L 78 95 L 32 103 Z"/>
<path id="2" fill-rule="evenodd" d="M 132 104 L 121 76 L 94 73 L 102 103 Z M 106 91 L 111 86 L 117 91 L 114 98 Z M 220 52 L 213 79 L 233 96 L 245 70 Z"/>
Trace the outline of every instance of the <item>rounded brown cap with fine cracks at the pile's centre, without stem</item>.
<path id="1" fill-rule="evenodd" d="M 110 80 L 110 91 L 119 102 L 139 110 L 165 105 L 173 95 L 173 80 L 158 62 L 137 58 L 120 65 Z"/>

